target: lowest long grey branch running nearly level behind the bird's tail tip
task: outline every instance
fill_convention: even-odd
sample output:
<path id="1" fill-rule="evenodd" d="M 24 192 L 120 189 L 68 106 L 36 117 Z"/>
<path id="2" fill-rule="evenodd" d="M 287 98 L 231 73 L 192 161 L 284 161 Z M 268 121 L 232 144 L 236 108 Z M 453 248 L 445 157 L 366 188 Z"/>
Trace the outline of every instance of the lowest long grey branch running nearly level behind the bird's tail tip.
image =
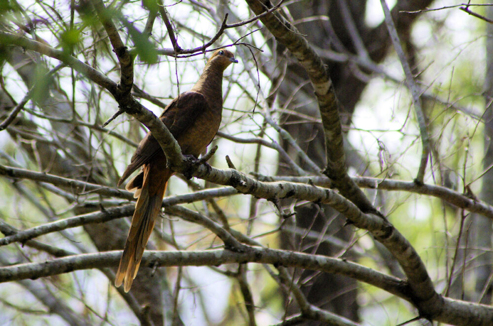
<path id="1" fill-rule="evenodd" d="M 120 251 L 83 254 L 54 259 L 42 263 L 20 264 L 0 267 L 0 282 L 32 279 L 58 275 L 74 270 L 113 267 L 118 264 Z M 267 248 L 249 248 L 243 253 L 230 250 L 193 251 L 146 251 L 142 266 L 219 266 L 231 263 L 260 263 L 284 267 L 300 267 L 329 273 L 343 274 L 381 288 L 395 296 L 410 300 L 405 281 L 387 276 L 373 269 L 345 260 L 326 256 L 294 253 Z M 443 309 L 435 320 L 454 325 L 489 326 L 493 319 L 493 307 L 441 297 Z M 460 316 L 459 316 L 460 314 Z"/>

